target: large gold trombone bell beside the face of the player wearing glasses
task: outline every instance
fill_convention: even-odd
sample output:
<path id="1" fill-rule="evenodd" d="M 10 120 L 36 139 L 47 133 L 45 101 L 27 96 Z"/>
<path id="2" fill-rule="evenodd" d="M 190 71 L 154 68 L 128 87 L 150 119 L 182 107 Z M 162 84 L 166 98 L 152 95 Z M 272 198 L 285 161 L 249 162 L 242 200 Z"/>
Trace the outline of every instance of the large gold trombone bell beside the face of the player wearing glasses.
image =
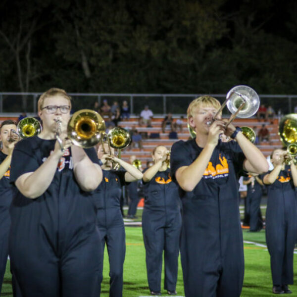
<path id="1" fill-rule="evenodd" d="M 91 109 L 76 111 L 67 125 L 67 135 L 72 143 L 82 148 L 92 148 L 105 133 L 105 122 L 98 112 Z"/>

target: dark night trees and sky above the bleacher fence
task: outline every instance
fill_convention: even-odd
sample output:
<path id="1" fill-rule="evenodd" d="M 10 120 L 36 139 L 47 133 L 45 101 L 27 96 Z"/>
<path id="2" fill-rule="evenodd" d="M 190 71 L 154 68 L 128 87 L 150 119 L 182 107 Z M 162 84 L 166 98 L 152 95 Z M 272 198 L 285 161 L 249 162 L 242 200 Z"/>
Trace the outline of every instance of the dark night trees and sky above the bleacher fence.
<path id="1" fill-rule="evenodd" d="M 234 4 L 235 3 L 235 4 Z M 297 93 L 295 0 L 0 1 L 0 91 Z"/>

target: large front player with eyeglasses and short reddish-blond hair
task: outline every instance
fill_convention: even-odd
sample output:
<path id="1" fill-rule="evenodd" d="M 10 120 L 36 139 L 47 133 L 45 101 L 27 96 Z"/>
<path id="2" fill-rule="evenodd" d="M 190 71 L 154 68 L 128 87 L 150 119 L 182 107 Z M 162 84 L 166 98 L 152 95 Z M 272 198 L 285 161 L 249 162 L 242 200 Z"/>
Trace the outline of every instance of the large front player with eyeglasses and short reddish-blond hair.
<path id="1" fill-rule="evenodd" d="M 23 297 L 99 296 L 100 238 L 91 191 L 102 171 L 94 148 L 66 138 L 70 109 L 64 90 L 43 93 L 42 132 L 13 150 L 9 255 Z"/>

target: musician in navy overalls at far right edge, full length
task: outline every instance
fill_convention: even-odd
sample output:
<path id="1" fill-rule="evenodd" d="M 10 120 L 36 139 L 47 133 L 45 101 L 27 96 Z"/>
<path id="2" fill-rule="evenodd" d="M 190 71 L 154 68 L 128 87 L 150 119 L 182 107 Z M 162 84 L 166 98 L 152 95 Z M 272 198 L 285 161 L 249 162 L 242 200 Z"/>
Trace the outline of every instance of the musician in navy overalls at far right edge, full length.
<path id="1" fill-rule="evenodd" d="M 271 154 L 273 170 L 262 176 L 267 187 L 266 243 L 270 254 L 270 266 L 275 294 L 290 294 L 293 284 L 293 258 L 297 236 L 296 187 L 297 168 L 283 149 Z"/>

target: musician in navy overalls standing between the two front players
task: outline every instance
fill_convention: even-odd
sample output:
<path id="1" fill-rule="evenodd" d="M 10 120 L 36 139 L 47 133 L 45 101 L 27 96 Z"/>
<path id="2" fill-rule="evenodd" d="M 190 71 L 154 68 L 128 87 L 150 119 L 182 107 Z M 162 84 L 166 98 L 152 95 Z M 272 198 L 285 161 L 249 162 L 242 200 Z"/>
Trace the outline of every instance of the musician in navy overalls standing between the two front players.
<path id="1" fill-rule="evenodd" d="M 164 251 L 164 289 L 176 295 L 181 211 L 178 185 L 170 176 L 169 152 L 158 146 L 152 151 L 154 164 L 144 170 L 145 207 L 142 228 L 146 248 L 150 295 L 161 295 Z"/>

